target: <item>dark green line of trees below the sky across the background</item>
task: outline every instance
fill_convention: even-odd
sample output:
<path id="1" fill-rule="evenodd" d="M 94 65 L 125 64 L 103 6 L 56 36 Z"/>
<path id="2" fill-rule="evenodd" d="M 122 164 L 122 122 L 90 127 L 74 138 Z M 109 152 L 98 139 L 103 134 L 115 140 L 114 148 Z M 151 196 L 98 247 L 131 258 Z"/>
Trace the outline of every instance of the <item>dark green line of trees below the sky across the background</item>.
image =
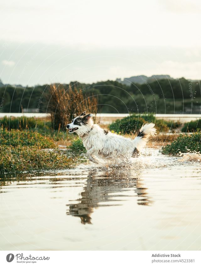
<path id="1" fill-rule="evenodd" d="M 201 106 L 200 83 L 185 78 L 161 79 L 130 86 L 110 80 L 92 84 L 75 81 L 62 86 L 67 92 L 69 86 L 72 88 L 71 101 L 67 104 L 72 103 L 73 90 L 76 89 L 85 98 L 96 97 L 97 112 L 102 113 L 199 113 Z M 26 109 L 28 112 L 30 109 L 48 112 L 49 92 L 50 85 L 25 88 L 4 85 L 0 88 L 0 100 L 3 99 L 0 112 L 22 112 Z"/>

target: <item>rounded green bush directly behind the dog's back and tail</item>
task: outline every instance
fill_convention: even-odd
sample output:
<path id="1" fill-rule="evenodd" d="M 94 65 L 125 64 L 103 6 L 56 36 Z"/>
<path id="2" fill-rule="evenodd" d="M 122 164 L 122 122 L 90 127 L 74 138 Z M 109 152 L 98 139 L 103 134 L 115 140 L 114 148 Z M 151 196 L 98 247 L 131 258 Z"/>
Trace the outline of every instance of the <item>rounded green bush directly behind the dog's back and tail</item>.
<path id="1" fill-rule="evenodd" d="M 121 119 L 117 119 L 115 122 L 111 123 L 110 130 L 114 130 L 115 132 L 119 133 L 133 133 L 136 129 L 140 128 L 144 123 L 153 122 L 156 124 L 156 129 L 158 131 L 168 131 L 169 127 L 167 126 L 166 122 L 162 119 L 155 119 L 153 114 L 132 114 L 131 116 L 124 117 Z"/>

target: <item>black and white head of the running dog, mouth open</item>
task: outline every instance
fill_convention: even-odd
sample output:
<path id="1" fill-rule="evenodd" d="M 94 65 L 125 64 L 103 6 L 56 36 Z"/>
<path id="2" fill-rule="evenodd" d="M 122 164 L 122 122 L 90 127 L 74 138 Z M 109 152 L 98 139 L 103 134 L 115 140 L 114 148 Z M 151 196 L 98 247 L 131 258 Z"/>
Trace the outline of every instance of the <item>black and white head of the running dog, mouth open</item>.
<path id="1" fill-rule="evenodd" d="M 69 130 L 69 133 L 84 134 L 93 126 L 92 116 L 93 114 L 86 115 L 86 112 L 83 112 L 80 116 L 75 117 L 66 128 Z"/>

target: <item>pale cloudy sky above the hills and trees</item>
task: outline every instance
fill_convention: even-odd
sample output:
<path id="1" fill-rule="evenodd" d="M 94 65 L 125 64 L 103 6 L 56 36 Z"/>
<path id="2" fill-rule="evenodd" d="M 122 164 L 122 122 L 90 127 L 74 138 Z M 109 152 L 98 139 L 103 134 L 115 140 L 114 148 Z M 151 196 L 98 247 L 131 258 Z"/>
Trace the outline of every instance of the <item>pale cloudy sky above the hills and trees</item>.
<path id="1" fill-rule="evenodd" d="M 200 79 L 200 12 L 194 0 L 1 0 L 0 79 Z"/>

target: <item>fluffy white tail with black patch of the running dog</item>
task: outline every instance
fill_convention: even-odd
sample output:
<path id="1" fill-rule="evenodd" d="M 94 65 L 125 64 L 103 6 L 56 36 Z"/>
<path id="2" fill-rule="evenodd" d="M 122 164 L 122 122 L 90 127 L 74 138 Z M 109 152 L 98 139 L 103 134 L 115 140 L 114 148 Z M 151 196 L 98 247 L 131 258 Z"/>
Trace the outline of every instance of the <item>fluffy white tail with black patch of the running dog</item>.
<path id="1" fill-rule="evenodd" d="M 133 142 L 135 147 L 140 150 L 145 146 L 150 136 L 155 136 L 156 129 L 154 123 L 143 124 L 143 126 L 138 129 L 137 137 L 134 138 Z"/>

